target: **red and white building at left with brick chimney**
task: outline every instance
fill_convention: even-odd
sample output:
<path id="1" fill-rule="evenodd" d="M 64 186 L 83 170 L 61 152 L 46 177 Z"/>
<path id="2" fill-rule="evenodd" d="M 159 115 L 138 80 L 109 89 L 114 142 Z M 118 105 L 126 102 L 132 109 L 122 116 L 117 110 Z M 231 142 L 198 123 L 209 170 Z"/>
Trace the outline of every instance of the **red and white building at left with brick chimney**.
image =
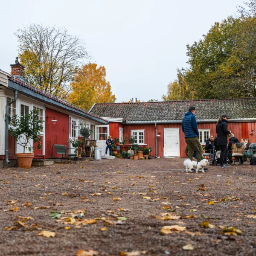
<path id="1" fill-rule="evenodd" d="M 86 125 L 93 130 L 99 130 L 99 127 L 108 125 L 108 121 L 101 117 L 27 84 L 23 79 L 24 67 L 21 64 L 13 64 L 11 68 L 11 74 L 0 70 L 0 113 L 2 121 L 0 122 L 0 166 L 3 165 L 7 152 L 9 160 L 15 159 L 15 153 L 23 152 L 20 145 L 15 142 L 5 127 L 6 105 L 12 99 L 15 99 L 15 93 L 17 93 L 15 102 L 9 106 L 10 117 L 15 114 L 23 116 L 36 109 L 39 110 L 38 118 L 44 121 L 43 131 L 39 134 L 42 137 L 42 148 L 41 150 L 35 149 L 34 158 L 50 158 L 52 144 L 66 145 L 67 148 L 71 148 L 68 140 L 70 137 L 79 137 L 82 125 Z M 57 122 L 52 122 L 53 119 Z M 11 122 L 8 120 L 7 122 L 9 122 L 10 128 Z M 13 128 L 15 129 L 15 127 Z M 6 134 L 9 138 L 8 151 L 5 147 Z M 98 134 L 93 133 L 91 139 L 96 136 Z M 53 157 L 60 157 L 60 155 L 53 151 Z"/>

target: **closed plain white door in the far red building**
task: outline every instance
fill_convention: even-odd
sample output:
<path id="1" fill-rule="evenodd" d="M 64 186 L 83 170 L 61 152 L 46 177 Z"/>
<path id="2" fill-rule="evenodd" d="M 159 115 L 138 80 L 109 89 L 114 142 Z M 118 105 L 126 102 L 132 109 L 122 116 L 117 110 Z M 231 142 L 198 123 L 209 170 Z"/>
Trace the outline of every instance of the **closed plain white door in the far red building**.
<path id="1" fill-rule="evenodd" d="M 180 156 L 179 128 L 164 128 L 164 157 Z"/>

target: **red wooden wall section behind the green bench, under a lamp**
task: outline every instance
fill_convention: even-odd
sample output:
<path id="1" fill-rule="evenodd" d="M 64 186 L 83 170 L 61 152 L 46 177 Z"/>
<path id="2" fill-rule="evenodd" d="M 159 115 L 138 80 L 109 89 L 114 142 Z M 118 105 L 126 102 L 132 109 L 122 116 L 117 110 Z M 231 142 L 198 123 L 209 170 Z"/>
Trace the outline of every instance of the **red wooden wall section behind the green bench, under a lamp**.
<path id="1" fill-rule="evenodd" d="M 52 124 L 52 118 L 46 118 L 46 116 L 54 116 L 58 122 L 55 125 Z M 45 110 L 45 158 L 51 157 L 52 144 L 66 145 L 68 148 L 68 115 L 55 111 L 50 108 Z M 56 151 L 52 151 L 52 157 L 60 157 L 55 154 Z"/>

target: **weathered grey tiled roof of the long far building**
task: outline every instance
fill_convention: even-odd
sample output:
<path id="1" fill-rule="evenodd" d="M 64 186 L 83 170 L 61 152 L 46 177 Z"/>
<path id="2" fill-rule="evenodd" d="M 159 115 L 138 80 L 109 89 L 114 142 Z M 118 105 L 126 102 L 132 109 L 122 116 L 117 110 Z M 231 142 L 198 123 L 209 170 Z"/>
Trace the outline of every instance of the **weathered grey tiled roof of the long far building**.
<path id="1" fill-rule="evenodd" d="M 195 106 L 198 120 L 215 120 L 222 114 L 231 119 L 256 118 L 256 98 L 96 103 L 90 111 L 102 117 L 122 118 L 126 122 L 180 121 L 189 106 Z"/>

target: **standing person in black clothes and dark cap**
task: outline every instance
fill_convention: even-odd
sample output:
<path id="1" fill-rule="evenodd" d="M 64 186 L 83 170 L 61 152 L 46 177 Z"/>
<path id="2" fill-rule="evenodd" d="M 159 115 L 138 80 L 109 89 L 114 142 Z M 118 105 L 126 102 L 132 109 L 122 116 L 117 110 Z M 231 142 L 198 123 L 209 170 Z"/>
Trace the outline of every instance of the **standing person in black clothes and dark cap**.
<path id="1" fill-rule="evenodd" d="M 220 155 L 220 167 L 227 168 L 230 164 L 227 163 L 227 134 L 231 134 L 231 131 L 227 129 L 227 119 L 229 117 L 227 115 L 222 115 L 219 117 L 217 125 L 216 125 L 216 134 L 217 134 L 217 144 L 221 150 Z"/>

